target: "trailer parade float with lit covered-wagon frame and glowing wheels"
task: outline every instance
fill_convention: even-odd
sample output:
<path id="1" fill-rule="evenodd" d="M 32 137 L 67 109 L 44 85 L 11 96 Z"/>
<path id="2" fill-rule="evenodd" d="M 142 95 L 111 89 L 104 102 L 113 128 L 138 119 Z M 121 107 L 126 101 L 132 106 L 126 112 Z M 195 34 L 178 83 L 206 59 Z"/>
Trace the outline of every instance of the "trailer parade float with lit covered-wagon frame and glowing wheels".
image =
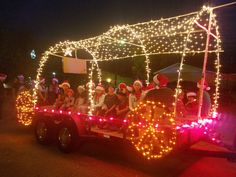
<path id="1" fill-rule="evenodd" d="M 51 46 L 42 54 L 37 70 L 33 95 L 21 93 L 17 98 L 17 116 L 24 125 L 34 124 L 35 135 L 39 143 L 47 144 L 53 139 L 64 152 L 71 151 L 75 144 L 84 138 L 103 137 L 110 140 L 125 140 L 134 145 L 146 159 L 161 158 L 173 150 L 188 147 L 204 137 L 212 136 L 217 123 L 218 99 L 220 90 L 220 53 L 221 38 L 214 10 L 219 7 L 203 6 L 200 11 L 170 18 L 161 18 L 133 25 L 111 27 L 107 32 L 80 41 L 65 41 Z M 78 51 L 85 51 L 91 58 L 86 59 L 90 69 L 89 111 L 87 114 L 58 110 L 50 106 L 37 105 L 37 88 L 44 67 L 50 56 L 72 56 Z M 136 109 L 124 119 L 100 117 L 93 115 L 93 79 L 102 81 L 101 62 L 135 59 L 143 56 L 146 68 L 146 84 L 150 82 L 150 56 L 175 55 L 180 58 L 178 80 L 175 88 L 173 111 L 166 105 L 155 101 L 140 102 Z M 215 86 L 212 95 L 212 107 L 207 116 L 201 115 L 204 82 L 209 54 L 215 57 Z M 202 77 L 199 89 L 198 114 L 191 117 L 177 116 L 177 96 L 182 89 L 182 70 L 189 56 L 199 55 L 202 58 Z M 96 72 L 95 72 L 96 71 Z M 122 125 L 122 131 L 109 131 L 99 128 L 99 124 Z M 210 136 L 211 135 L 211 136 Z"/>

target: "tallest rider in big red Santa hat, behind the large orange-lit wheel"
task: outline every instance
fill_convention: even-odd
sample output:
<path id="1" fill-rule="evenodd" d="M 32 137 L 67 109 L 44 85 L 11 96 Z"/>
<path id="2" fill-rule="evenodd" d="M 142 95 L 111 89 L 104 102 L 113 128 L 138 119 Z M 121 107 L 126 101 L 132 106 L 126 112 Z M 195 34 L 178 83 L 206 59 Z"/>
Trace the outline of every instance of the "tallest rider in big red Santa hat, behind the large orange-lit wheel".
<path id="1" fill-rule="evenodd" d="M 157 74 L 153 77 L 155 88 L 149 90 L 144 100 L 160 102 L 167 106 L 169 111 L 173 111 L 174 91 L 167 87 L 168 77 L 163 74 Z"/>

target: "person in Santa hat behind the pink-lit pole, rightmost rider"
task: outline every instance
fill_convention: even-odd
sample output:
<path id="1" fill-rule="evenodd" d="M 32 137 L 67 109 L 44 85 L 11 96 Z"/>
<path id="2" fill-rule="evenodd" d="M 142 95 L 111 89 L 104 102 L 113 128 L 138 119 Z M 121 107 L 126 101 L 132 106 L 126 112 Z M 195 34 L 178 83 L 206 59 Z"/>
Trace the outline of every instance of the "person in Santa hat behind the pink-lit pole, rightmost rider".
<path id="1" fill-rule="evenodd" d="M 197 87 L 200 89 L 201 88 L 201 80 L 198 81 Z M 202 110 L 201 110 L 201 116 L 207 117 L 210 113 L 211 109 L 211 97 L 207 91 L 210 90 L 210 87 L 208 86 L 206 80 L 203 83 L 203 99 L 202 99 Z M 197 100 L 199 102 L 200 98 L 200 90 L 197 93 Z"/>

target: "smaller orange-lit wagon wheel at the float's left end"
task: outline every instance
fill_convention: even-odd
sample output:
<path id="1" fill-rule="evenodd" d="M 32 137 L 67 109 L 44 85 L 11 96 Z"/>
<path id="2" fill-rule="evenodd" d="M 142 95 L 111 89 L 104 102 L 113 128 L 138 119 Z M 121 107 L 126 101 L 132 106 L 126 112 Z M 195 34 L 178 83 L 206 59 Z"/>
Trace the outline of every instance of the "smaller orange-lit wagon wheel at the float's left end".
<path id="1" fill-rule="evenodd" d="M 30 91 L 22 91 L 16 98 L 16 113 L 17 120 L 23 125 L 29 126 L 32 124 L 34 116 L 34 104 Z"/>

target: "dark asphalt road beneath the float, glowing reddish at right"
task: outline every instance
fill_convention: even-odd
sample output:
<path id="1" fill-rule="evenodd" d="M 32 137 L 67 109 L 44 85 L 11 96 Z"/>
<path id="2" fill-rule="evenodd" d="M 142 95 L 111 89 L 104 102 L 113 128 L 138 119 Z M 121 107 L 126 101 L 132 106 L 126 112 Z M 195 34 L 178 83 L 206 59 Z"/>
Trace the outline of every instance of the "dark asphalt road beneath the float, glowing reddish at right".
<path id="1" fill-rule="evenodd" d="M 235 177 L 236 163 L 182 152 L 143 161 L 127 144 L 90 141 L 73 154 L 39 145 L 32 128 L 0 120 L 0 177 Z"/>

